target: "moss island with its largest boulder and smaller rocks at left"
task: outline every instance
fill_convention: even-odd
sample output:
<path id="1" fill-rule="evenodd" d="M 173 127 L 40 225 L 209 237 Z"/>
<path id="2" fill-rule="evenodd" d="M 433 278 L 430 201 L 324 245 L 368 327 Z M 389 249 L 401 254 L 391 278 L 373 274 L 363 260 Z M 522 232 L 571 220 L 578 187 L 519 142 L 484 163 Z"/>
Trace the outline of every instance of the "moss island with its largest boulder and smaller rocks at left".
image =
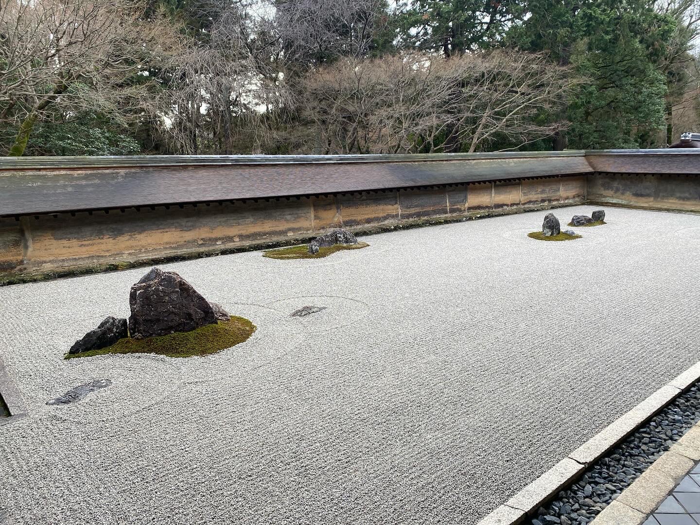
<path id="1" fill-rule="evenodd" d="M 66 358 L 103 353 L 206 355 L 243 342 L 255 331 L 246 318 L 208 302 L 175 272 L 153 268 L 129 294 L 129 320 L 107 317 L 71 346 Z"/>

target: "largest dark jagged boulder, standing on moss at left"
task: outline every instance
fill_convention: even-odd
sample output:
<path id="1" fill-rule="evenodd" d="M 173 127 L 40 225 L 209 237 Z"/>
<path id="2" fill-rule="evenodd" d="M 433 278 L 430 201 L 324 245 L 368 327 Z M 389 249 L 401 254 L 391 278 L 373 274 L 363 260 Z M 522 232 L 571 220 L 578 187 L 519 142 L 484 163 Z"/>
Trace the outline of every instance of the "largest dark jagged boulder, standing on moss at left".
<path id="1" fill-rule="evenodd" d="M 153 268 L 129 294 L 131 337 L 189 332 L 216 323 L 211 304 L 175 272 Z"/>

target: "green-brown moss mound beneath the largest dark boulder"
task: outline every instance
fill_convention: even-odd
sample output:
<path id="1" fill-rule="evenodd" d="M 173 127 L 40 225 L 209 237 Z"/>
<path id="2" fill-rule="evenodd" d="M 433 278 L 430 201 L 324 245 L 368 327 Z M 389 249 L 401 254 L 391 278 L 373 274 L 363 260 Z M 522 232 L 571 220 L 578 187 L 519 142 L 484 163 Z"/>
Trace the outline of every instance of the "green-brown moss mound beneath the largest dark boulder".
<path id="1" fill-rule="evenodd" d="M 244 342 L 255 332 L 255 325 L 244 317 L 231 316 L 229 321 L 219 321 L 191 332 L 175 332 L 146 339 L 119 339 L 112 346 L 83 353 L 66 354 L 66 359 L 102 356 L 105 353 L 156 353 L 159 356 L 191 357 L 208 356 Z"/>

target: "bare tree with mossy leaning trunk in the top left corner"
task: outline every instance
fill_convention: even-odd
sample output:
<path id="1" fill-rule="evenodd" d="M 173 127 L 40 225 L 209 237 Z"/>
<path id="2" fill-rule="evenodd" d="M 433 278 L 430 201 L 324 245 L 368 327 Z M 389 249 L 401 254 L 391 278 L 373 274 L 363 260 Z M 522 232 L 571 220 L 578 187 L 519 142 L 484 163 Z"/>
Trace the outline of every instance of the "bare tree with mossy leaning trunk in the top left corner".
<path id="1" fill-rule="evenodd" d="M 144 83 L 125 80 L 148 58 L 153 28 L 136 0 L 0 0 L 0 122 L 19 125 L 22 155 L 35 123 L 56 105 L 120 118 Z"/>

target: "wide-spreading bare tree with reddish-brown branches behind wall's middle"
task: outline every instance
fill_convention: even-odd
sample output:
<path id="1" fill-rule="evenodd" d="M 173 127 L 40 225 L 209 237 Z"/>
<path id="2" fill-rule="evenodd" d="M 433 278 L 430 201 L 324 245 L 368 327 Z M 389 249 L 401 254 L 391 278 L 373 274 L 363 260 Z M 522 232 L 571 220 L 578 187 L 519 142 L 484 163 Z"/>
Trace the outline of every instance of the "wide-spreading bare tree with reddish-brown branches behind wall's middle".
<path id="1" fill-rule="evenodd" d="M 579 83 L 542 55 L 496 51 L 346 59 L 306 86 L 324 153 L 436 153 L 477 151 L 498 134 L 522 143 L 551 136 L 566 123 L 535 116 L 563 106 Z"/>

